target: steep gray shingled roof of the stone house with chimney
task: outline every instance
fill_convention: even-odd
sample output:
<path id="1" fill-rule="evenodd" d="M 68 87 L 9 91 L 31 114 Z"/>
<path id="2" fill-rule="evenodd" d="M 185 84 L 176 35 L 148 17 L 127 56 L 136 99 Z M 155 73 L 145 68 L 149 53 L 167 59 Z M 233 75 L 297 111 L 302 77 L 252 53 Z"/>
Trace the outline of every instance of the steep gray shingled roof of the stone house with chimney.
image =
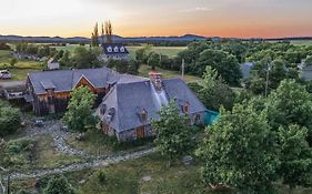
<path id="1" fill-rule="evenodd" d="M 190 113 L 207 111 L 204 105 L 181 79 L 163 80 L 163 85 L 169 100 L 179 99 L 189 102 Z M 102 105 L 103 104 L 107 111 L 102 120 L 118 132 L 142 125 L 141 118 L 138 115 L 138 110 L 145 110 L 148 113 L 148 121 L 144 124 L 149 124 L 150 121 L 159 119 L 159 109 L 153 101 L 150 81 L 118 83 L 103 98 Z M 112 119 L 108 116 L 108 110 L 111 109 L 115 111 Z"/>

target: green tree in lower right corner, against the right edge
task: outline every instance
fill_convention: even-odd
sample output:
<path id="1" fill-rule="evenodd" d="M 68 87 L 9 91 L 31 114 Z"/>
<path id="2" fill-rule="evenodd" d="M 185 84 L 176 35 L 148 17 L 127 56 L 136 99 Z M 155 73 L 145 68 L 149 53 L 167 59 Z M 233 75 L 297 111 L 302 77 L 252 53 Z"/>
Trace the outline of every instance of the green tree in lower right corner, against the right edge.
<path id="1" fill-rule="evenodd" d="M 279 173 L 290 193 L 296 186 L 312 185 L 312 149 L 305 139 L 308 130 L 298 125 L 280 127 L 281 166 Z"/>

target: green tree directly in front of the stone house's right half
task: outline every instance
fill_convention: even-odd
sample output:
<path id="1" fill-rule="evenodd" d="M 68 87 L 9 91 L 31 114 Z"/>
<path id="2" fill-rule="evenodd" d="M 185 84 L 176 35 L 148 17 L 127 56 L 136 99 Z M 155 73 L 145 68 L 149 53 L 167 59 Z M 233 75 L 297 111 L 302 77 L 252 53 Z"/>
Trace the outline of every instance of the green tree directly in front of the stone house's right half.
<path id="1" fill-rule="evenodd" d="M 180 116 L 174 101 L 170 101 L 168 106 L 161 108 L 160 120 L 153 121 L 152 127 L 157 132 L 154 142 L 161 154 L 169 159 L 169 164 L 192 147 L 189 118 Z"/>

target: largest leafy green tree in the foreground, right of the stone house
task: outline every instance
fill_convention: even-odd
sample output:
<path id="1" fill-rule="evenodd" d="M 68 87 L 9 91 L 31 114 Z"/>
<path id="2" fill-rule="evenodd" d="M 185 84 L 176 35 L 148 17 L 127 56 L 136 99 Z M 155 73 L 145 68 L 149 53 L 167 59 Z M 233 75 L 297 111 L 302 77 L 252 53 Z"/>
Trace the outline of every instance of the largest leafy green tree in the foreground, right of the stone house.
<path id="1" fill-rule="evenodd" d="M 207 129 L 197 154 L 203 160 L 202 178 L 212 186 L 225 185 L 241 193 L 270 193 L 279 166 L 279 149 L 264 111 L 252 104 L 221 110 Z"/>

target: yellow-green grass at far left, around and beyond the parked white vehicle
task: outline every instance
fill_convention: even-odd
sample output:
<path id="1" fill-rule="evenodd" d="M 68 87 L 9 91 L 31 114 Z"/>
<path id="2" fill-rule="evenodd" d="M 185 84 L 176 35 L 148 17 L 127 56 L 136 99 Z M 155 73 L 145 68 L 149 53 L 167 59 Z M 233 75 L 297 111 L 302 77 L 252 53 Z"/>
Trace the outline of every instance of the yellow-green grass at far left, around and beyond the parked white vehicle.
<path id="1" fill-rule="evenodd" d="M 0 50 L 0 70 L 10 68 L 10 60 L 12 55 L 10 51 L 1 51 Z M 1 82 L 6 81 L 22 81 L 26 80 L 27 74 L 31 71 L 41 70 L 42 64 L 37 61 L 22 60 L 18 61 L 14 68 L 10 68 L 10 72 L 12 74 L 12 79 L 10 80 L 1 80 Z"/>

